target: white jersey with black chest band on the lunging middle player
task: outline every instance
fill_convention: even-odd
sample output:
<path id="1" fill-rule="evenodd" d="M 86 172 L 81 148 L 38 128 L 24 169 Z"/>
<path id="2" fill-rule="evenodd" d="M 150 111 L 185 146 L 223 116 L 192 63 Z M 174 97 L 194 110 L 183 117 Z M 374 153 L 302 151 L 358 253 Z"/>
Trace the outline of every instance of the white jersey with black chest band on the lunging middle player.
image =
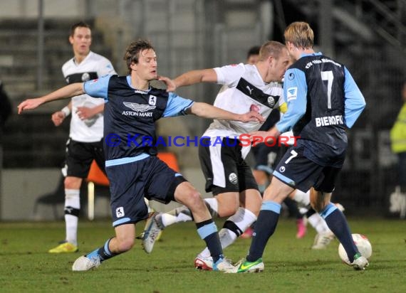
<path id="1" fill-rule="evenodd" d="M 235 64 L 214 68 L 217 83 L 223 85 L 214 106 L 244 114 L 258 111 L 265 119 L 272 109 L 286 107 L 282 87 L 275 82 L 265 83 L 255 65 Z M 204 132 L 204 137 L 239 137 L 261 127 L 258 122 L 238 122 L 215 119 Z"/>

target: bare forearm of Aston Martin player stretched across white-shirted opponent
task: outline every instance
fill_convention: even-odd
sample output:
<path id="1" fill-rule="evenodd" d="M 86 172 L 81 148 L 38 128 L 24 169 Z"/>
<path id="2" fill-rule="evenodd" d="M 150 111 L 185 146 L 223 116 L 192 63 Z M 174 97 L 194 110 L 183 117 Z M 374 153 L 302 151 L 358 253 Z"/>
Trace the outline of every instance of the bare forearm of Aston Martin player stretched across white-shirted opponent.
<path id="1" fill-rule="evenodd" d="M 218 107 L 206 104 L 204 102 L 194 102 L 192 107 L 188 109 L 190 114 L 195 114 L 196 116 L 208 118 L 208 119 L 219 119 L 219 120 L 235 120 L 241 122 L 264 122 L 264 117 L 258 112 L 247 112 L 245 114 L 236 114 L 226 110 L 222 110 Z"/>

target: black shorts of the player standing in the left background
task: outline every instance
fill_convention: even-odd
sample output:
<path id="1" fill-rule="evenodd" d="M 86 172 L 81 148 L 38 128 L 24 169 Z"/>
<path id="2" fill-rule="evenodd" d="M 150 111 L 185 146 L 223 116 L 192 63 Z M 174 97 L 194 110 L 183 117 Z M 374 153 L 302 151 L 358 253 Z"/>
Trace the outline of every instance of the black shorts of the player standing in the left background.
<path id="1" fill-rule="evenodd" d="M 105 173 L 103 139 L 100 142 L 76 142 L 68 139 L 66 142 L 66 176 L 86 178 L 93 159 L 100 170 Z"/>

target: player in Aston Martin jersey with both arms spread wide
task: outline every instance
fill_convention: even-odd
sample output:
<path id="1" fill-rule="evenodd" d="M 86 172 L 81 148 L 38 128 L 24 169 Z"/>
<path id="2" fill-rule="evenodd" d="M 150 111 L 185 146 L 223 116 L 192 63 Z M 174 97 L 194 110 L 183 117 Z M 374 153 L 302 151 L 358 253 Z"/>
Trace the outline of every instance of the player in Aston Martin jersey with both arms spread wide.
<path id="1" fill-rule="evenodd" d="M 135 223 L 148 215 L 144 197 L 164 203 L 177 201 L 187 206 L 192 211 L 197 232 L 212 254 L 214 270 L 227 272 L 234 269 L 223 256 L 217 226 L 200 193 L 182 174 L 157 158 L 155 121 L 161 117 L 183 114 L 240 122 L 264 122 L 264 118 L 257 112 L 235 114 L 151 87 L 150 81 L 158 78 L 157 55 L 148 41 L 130 43 L 124 59 L 127 76 L 105 75 L 97 80 L 73 83 L 43 97 L 25 100 L 19 105 L 21 113 L 45 102 L 84 93 L 105 100 L 105 169 L 110 181 L 115 236 L 100 248 L 79 257 L 73 263 L 72 270 L 90 270 L 100 265 L 100 262 L 132 248 Z M 153 137 L 154 141 L 143 144 L 144 137 Z"/>

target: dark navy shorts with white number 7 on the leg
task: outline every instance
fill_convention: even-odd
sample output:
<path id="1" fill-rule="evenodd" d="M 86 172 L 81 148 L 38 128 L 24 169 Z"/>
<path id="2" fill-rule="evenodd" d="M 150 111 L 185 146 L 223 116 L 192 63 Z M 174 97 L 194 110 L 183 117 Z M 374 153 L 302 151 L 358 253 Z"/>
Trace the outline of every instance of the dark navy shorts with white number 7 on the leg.
<path id="1" fill-rule="evenodd" d="M 341 168 L 321 166 L 303 156 L 303 149 L 291 146 L 274 171 L 274 176 L 300 191 L 311 187 L 316 191 L 333 192 Z"/>

